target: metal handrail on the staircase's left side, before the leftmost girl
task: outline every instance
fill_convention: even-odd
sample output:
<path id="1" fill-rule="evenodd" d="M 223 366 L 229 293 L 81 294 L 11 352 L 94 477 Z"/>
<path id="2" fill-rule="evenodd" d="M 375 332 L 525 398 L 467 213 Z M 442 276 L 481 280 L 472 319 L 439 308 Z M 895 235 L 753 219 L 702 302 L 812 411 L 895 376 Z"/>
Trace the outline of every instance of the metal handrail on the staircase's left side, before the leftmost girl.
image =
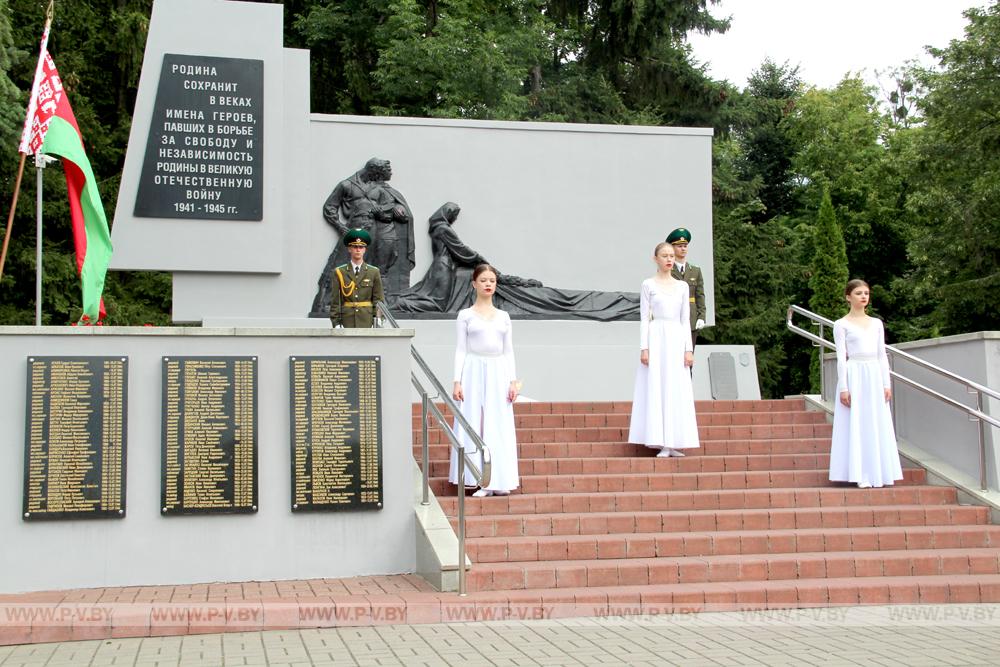
<path id="1" fill-rule="evenodd" d="M 375 306 L 378 308 L 378 312 L 382 316 L 382 320 L 384 322 L 388 322 L 394 329 L 400 328 L 399 323 L 396 322 L 396 318 L 392 316 L 392 313 L 389 312 L 389 309 L 383 302 L 377 301 Z M 475 478 L 479 486 L 489 486 L 490 478 L 493 473 L 492 456 L 490 455 L 489 447 L 487 447 L 486 443 L 483 442 L 482 437 L 480 437 L 480 435 L 465 419 L 465 415 L 463 415 L 462 411 L 458 409 L 457 405 L 455 405 L 455 402 L 451 399 L 451 396 L 448 395 L 447 390 L 445 390 L 444 385 L 441 384 L 441 381 L 436 375 L 434 375 L 430 366 L 427 365 L 427 362 L 424 361 L 424 358 L 420 356 L 420 353 L 417 352 L 417 348 L 413 345 L 410 345 L 410 356 L 412 356 L 413 360 L 417 362 L 417 366 L 420 367 L 420 370 L 423 372 L 425 378 L 430 381 L 434 391 L 437 392 L 437 395 L 432 399 L 428 391 L 420 383 L 420 379 L 417 377 L 416 373 L 412 370 L 410 371 L 410 382 L 417 390 L 417 393 L 420 394 L 421 405 L 420 428 L 423 435 L 423 447 L 421 451 L 421 462 L 423 464 L 421 466 L 423 468 L 422 505 L 430 504 L 430 453 L 427 442 L 427 427 L 431 416 L 437 420 L 441 430 L 443 430 L 444 434 L 448 437 L 448 442 L 452 449 L 458 452 L 457 479 L 459 480 L 460 486 L 458 491 L 458 594 L 465 595 L 465 469 L 468 467 L 469 472 L 472 474 L 473 478 Z M 472 441 L 473 445 L 475 445 L 477 458 L 479 454 L 482 455 L 482 470 L 479 469 L 473 459 L 469 458 L 469 454 L 459 441 L 458 434 L 455 432 L 455 429 L 448 423 L 448 420 L 445 418 L 441 409 L 432 402 L 433 400 L 443 401 L 448 411 L 454 415 L 455 424 L 461 428 L 461 430 L 465 431 L 468 439 Z"/>

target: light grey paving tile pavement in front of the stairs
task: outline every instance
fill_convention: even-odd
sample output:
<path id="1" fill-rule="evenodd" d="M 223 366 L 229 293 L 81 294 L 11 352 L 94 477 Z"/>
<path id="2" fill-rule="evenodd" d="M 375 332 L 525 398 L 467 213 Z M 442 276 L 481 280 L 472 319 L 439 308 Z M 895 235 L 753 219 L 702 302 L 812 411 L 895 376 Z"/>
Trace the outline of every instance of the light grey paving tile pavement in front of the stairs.
<path id="1" fill-rule="evenodd" d="M 997 664 L 1000 604 L 269 630 L 0 647 L 0 667 Z"/>

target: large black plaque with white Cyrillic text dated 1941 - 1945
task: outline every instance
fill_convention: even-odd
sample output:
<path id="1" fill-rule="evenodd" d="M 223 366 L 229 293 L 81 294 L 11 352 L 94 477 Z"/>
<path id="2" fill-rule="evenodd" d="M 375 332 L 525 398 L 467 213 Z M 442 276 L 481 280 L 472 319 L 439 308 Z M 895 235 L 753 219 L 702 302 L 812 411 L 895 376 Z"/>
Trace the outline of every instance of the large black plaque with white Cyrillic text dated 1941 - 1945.
<path id="1" fill-rule="evenodd" d="M 264 61 L 166 53 L 135 215 L 260 220 Z"/>

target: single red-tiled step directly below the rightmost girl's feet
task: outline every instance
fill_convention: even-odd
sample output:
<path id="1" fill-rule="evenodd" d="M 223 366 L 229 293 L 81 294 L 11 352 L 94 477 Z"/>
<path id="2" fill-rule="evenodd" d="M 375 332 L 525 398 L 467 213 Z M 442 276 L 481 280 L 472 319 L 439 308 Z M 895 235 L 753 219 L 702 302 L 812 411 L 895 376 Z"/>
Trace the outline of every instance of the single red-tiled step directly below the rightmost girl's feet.
<path id="1" fill-rule="evenodd" d="M 438 498 L 445 514 L 454 516 L 457 499 Z M 734 510 L 885 505 L 955 505 L 957 492 L 946 486 L 890 486 L 858 489 L 722 489 L 706 491 L 638 491 L 619 493 L 524 493 L 466 498 L 465 511 L 474 515 L 553 514 L 580 512 L 662 512 L 668 510 Z M 891 510 L 890 510 L 891 511 Z"/>

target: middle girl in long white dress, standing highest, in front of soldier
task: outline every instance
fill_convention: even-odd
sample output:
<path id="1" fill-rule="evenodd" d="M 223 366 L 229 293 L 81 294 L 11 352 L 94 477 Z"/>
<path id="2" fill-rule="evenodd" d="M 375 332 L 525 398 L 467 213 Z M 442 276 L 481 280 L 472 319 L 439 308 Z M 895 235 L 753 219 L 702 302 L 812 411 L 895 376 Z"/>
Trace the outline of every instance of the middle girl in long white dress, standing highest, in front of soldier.
<path id="1" fill-rule="evenodd" d="M 684 456 L 698 446 L 691 371 L 691 308 L 686 282 L 670 275 L 674 247 L 653 251 L 656 275 L 639 293 L 639 370 L 635 375 L 628 441 L 659 449 L 657 456 Z"/>

